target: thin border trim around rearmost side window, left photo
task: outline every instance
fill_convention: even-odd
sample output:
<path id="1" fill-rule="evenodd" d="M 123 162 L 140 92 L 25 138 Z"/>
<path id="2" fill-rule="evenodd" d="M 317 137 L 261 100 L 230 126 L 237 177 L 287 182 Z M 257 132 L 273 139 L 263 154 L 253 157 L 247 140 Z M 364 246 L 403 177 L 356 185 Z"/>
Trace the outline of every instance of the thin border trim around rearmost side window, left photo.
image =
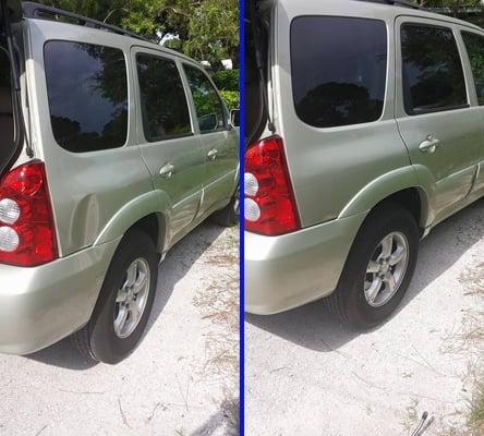
<path id="1" fill-rule="evenodd" d="M 125 66 L 125 71 L 126 71 L 126 111 L 128 111 L 128 120 L 126 120 L 126 138 L 124 140 L 124 143 L 122 145 L 119 145 L 117 147 L 111 147 L 111 148 L 100 148 L 100 149 L 96 149 L 96 150 L 88 150 L 88 152 L 72 152 L 68 148 L 64 148 L 62 145 L 60 145 L 56 138 L 56 135 L 53 133 L 53 126 L 52 126 L 52 116 L 51 116 L 51 108 L 50 108 L 50 101 L 49 101 L 49 88 L 47 85 L 47 73 L 46 73 L 46 46 L 49 43 L 71 43 L 71 44 L 84 44 L 84 45 L 88 45 L 88 46 L 97 46 L 97 47 L 105 47 L 105 48 L 111 48 L 114 50 L 119 50 L 123 53 L 123 58 L 124 58 L 124 66 Z M 84 40 L 73 40 L 73 39 L 60 39 L 60 38 L 52 38 L 52 39 L 47 39 L 44 41 L 43 44 L 43 71 L 44 71 L 44 83 L 46 86 L 46 101 L 47 101 L 47 107 L 49 109 L 49 113 L 48 113 L 48 119 L 49 122 L 48 124 L 50 125 L 50 132 L 52 134 L 52 138 L 55 141 L 55 143 L 65 153 L 70 153 L 72 155 L 86 155 L 89 153 L 104 153 L 104 152 L 110 152 L 110 150 L 117 150 L 117 149 L 121 149 L 121 148 L 125 148 L 129 144 L 130 144 L 130 132 L 131 132 L 131 110 L 130 110 L 130 106 L 131 106 L 131 101 L 132 101 L 132 90 L 131 90 L 131 86 L 130 86 L 130 69 L 129 69 L 129 62 L 128 62 L 128 55 L 124 51 L 124 49 L 120 48 L 120 47 L 114 47 L 114 46 L 109 46 L 106 44 L 96 44 L 96 43 L 86 43 Z"/>

